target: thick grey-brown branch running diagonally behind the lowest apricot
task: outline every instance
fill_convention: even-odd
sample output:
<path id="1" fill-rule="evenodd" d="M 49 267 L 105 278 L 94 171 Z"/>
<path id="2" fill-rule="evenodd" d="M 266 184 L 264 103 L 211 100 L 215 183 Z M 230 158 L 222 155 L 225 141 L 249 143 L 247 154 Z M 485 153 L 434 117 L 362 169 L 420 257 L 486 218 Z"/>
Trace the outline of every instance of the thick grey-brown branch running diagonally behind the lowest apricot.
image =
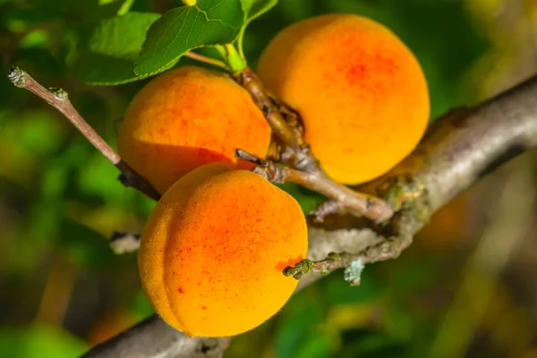
<path id="1" fill-rule="evenodd" d="M 355 217 L 333 216 L 323 226 L 309 227 L 308 258 L 323 260 L 329 252 L 357 252 L 353 259 L 364 263 L 396 257 L 412 243 L 413 234 L 434 210 L 497 166 L 537 145 L 535 98 L 537 76 L 481 106 L 452 111 L 440 118 L 413 154 L 388 175 L 360 187 L 406 198 L 391 220 L 397 235 L 386 239 L 356 225 Z M 409 190 L 412 187 L 418 190 Z M 330 271 L 338 266 L 323 269 Z M 319 277 L 320 273 L 303 276 L 297 290 Z M 217 357 L 228 339 L 187 338 L 152 316 L 84 357 Z M 215 355 L 200 354 L 200 342 L 209 341 L 217 346 L 210 353 Z"/>

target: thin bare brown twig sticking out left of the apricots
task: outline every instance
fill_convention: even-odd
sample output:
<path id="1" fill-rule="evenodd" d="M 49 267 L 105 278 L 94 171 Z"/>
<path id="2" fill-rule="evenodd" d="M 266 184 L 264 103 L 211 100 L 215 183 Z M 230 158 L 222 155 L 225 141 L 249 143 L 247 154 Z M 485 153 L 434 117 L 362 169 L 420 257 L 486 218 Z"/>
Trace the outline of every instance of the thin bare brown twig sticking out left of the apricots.
<path id="1" fill-rule="evenodd" d="M 124 162 L 124 160 L 110 147 L 106 141 L 104 141 L 100 135 L 90 124 L 88 124 L 84 118 L 72 107 L 72 103 L 67 96 L 67 92 L 62 89 L 51 88 L 47 90 L 41 86 L 38 81 L 35 81 L 30 74 L 22 71 L 18 67 L 12 67 L 8 76 L 13 85 L 24 90 L 30 90 L 33 94 L 37 95 L 47 101 L 47 103 L 55 107 L 62 113 L 78 130 L 82 133 L 93 146 L 98 149 L 113 165 L 115 165 L 121 172 L 120 180 L 125 186 L 132 186 L 140 192 L 143 192 L 149 198 L 158 200 L 160 194 L 153 188 L 148 181 L 146 181 L 141 175 L 136 173 L 131 166 Z"/>

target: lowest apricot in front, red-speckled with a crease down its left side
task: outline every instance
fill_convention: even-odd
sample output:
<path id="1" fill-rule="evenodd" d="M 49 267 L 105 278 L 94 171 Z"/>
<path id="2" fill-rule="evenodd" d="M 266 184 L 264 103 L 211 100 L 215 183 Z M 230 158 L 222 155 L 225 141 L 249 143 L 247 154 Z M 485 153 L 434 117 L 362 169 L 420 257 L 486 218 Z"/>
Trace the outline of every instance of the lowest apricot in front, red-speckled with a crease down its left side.
<path id="1" fill-rule="evenodd" d="M 189 337 L 255 328 L 293 294 L 282 270 L 306 255 L 303 211 L 260 175 L 221 163 L 184 175 L 141 236 L 141 283 L 155 311 Z"/>

